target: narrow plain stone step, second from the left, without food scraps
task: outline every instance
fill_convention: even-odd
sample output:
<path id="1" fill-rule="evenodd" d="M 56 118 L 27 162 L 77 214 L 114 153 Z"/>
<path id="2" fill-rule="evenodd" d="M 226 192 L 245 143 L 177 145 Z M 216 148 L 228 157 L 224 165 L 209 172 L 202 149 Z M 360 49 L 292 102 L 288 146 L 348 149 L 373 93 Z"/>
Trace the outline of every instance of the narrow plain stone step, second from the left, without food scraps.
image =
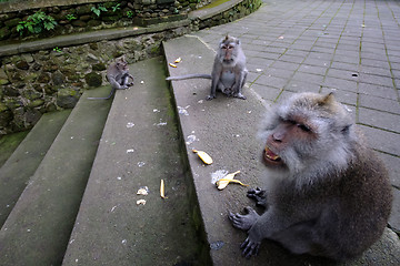
<path id="1" fill-rule="evenodd" d="M 0 265 L 61 264 L 111 105 L 87 98 L 109 89 L 83 93 L 29 180 L 0 231 Z"/>

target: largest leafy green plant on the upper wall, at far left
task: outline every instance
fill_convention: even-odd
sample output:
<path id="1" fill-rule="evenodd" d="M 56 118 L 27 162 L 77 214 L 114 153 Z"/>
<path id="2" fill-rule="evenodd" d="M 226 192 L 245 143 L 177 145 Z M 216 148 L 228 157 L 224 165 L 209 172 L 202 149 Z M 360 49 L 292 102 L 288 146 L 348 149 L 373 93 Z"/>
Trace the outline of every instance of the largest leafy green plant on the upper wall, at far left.
<path id="1" fill-rule="evenodd" d="M 20 34 L 27 29 L 30 33 L 38 34 L 44 30 L 52 30 L 57 25 L 57 21 L 51 16 L 46 14 L 42 11 L 38 11 L 34 14 L 28 17 L 27 20 L 20 21 L 17 25 L 17 31 Z"/>

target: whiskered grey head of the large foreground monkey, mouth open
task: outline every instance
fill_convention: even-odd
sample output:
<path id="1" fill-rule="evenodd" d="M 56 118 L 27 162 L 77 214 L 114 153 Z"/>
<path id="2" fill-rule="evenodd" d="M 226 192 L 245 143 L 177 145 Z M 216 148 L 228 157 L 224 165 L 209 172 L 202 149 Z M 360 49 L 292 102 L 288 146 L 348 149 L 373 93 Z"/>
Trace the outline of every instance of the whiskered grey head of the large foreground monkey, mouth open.
<path id="1" fill-rule="evenodd" d="M 263 163 L 292 175 L 311 168 L 346 165 L 349 117 L 331 96 L 299 93 L 268 112 L 261 132 Z M 324 165 L 324 166 L 321 166 Z"/>

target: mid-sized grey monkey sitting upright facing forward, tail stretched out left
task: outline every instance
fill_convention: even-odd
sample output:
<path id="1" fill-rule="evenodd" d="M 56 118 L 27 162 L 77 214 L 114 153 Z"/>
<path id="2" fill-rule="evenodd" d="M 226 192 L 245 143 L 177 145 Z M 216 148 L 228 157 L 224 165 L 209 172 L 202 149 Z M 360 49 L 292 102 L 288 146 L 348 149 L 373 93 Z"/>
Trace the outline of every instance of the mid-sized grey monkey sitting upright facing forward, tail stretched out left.
<path id="1" fill-rule="evenodd" d="M 167 80 L 211 79 L 211 93 L 207 100 L 214 99 L 217 90 L 228 96 L 246 100 L 242 88 L 247 74 L 246 57 L 239 39 L 227 35 L 219 44 L 211 74 L 178 75 L 169 76 Z"/>

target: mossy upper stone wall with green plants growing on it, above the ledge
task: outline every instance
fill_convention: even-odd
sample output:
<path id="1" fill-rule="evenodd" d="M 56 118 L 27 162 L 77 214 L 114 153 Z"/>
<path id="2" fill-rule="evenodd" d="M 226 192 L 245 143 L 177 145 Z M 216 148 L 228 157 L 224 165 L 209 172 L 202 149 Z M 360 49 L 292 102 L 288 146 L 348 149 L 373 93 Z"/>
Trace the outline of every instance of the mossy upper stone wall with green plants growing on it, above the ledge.
<path id="1" fill-rule="evenodd" d="M 178 20 L 190 10 L 211 0 L 11 0 L 0 2 L 0 41 L 32 40 L 99 29 L 128 27 L 133 24 Z M 43 29 L 39 34 L 29 30 L 18 31 L 21 21 L 29 21 L 30 16 L 43 12 L 57 22 L 52 30 Z M 157 20 L 158 19 L 158 20 Z M 43 28 L 43 27 L 42 27 Z"/>

